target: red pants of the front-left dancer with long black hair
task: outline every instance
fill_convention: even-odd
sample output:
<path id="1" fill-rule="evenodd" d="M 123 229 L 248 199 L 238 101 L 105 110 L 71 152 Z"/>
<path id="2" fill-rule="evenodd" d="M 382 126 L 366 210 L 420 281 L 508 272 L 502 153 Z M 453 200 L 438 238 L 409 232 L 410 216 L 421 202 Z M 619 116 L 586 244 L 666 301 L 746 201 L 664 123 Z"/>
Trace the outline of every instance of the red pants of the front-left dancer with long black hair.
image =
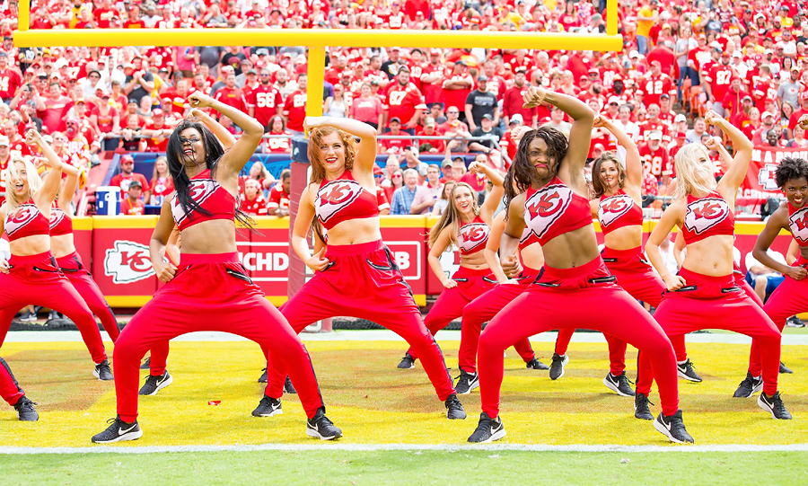
<path id="1" fill-rule="evenodd" d="M 183 253 L 174 278 L 154 294 L 115 344 L 115 392 L 121 420 L 137 418 L 140 360 L 148 349 L 192 331 L 232 332 L 268 348 L 289 370 L 303 409 L 323 406 L 312 362 L 283 315 L 252 283 L 237 253 Z"/>

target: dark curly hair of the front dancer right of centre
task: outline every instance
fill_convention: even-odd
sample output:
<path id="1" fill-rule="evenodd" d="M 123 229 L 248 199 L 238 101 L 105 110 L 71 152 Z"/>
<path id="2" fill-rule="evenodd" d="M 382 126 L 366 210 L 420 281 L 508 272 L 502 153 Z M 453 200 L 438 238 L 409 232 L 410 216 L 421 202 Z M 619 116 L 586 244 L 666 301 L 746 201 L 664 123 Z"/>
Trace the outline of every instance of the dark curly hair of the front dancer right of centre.
<path id="1" fill-rule="evenodd" d="M 531 143 L 536 138 L 541 138 L 547 144 L 547 158 L 550 167 L 555 167 L 558 171 L 558 164 L 566 157 L 566 150 L 569 147 L 569 142 L 566 136 L 558 129 L 552 127 L 540 127 L 525 133 L 519 146 L 516 148 L 516 155 L 514 155 L 514 163 L 505 174 L 505 207 L 510 204 L 511 200 L 519 194 L 522 194 L 534 183 L 540 184 L 546 181 L 540 181 L 539 174 L 536 173 L 536 167 L 531 163 L 530 149 Z M 552 175 L 556 175 L 553 173 Z"/>

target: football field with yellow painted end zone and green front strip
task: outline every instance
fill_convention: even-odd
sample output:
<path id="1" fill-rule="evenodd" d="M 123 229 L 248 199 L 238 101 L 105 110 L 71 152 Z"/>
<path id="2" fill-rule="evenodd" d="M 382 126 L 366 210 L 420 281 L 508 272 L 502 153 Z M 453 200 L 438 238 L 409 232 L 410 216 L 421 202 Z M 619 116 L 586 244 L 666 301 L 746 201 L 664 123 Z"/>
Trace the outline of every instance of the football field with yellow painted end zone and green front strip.
<path id="1" fill-rule="evenodd" d="M 786 329 L 784 335 L 782 360 L 795 372 L 780 375 L 779 389 L 795 417 L 784 421 L 771 419 L 755 398 L 732 397 L 745 376 L 746 338 L 720 331 L 689 335 L 689 357 L 704 382 L 679 383 L 696 446 L 670 445 L 651 422 L 634 418 L 633 399 L 602 384 L 608 353 L 602 336 L 593 333 L 575 335 L 570 363 L 557 381 L 546 371 L 526 369 L 509 349 L 502 389 L 507 436 L 470 446 L 479 390 L 461 396 L 467 420 L 446 420 L 420 364 L 396 368 L 406 345 L 386 331 L 303 335 L 329 418 L 343 429 L 334 443 L 305 435 L 295 395 L 285 396 L 283 415 L 250 415 L 262 393 L 257 378 L 264 366 L 255 344 L 189 335 L 171 343 L 174 383 L 141 397 L 144 436 L 94 446 L 90 437 L 115 415 L 114 385 L 93 378 L 77 335 L 11 333 L 4 343 L 4 358 L 40 411 L 33 423 L 16 420 L 10 407 L 0 413 L 0 477 L 7 483 L 703 483 L 735 482 L 742 471 L 742 482 L 797 484 L 808 469 L 804 330 Z M 437 337 L 457 376 L 459 333 Z M 547 364 L 554 339 L 548 333 L 532 340 Z M 632 378 L 636 358 L 629 347 Z M 655 389 L 650 398 L 658 413 Z"/>

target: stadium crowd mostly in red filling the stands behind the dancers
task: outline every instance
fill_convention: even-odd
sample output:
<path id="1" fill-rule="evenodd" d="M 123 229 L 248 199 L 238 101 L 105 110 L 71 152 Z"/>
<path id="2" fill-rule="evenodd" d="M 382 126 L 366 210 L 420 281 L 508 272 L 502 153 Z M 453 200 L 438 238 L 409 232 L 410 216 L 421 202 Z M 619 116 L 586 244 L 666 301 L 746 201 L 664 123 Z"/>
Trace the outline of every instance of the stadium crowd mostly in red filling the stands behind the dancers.
<path id="1" fill-rule="evenodd" d="M 264 153 L 289 153 L 289 137 L 303 132 L 309 88 L 304 48 L 16 49 L 16 4 L 2 8 L 0 166 L 12 151 L 37 156 L 23 139 L 31 127 L 48 134 L 66 161 L 85 169 L 98 163 L 101 151 L 162 153 L 196 91 L 259 119 L 268 135 Z M 378 148 L 387 157 L 376 171 L 380 208 L 391 214 L 439 214 L 447 181 L 473 182 L 484 195 L 484 181 L 466 174 L 465 166 L 477 157 L 505 171 L 518 126 L 568 131 L 561 110 L 522 107 L 521 93 L 530 85 L 575 94 L 637 141 L 648 204 L 667 194 L 681 146 L 718 135 L 700 118 L 706 110 L 723 114 L 756 145 L 808 146 L 796 126 L 808 113 L 808 22 L 797 2 L 639 0 L 620 2 L 618 14 L 624 40 L 618 53 L 330 48 L 324 114 L 403 137 L 382 138 Z M 605 32 L 605 17 L 605 0 L 51 0 L 33 2 L 31 29 Z M 230 120 L 220 121 L 238 132 Z M 594 132 L 591 157 L 620 151 L 606 130 Z M 443 162 L 422 162 L 424 155 L 443 156 Z M 120 160 L 125 212 L 142 214 L 144 205 L 160 204 L 171 193 L 164 160 L 150 181 L 140 178 L 139 190 L 130 190 L 131 157 Z M 251 213 L 288 207 L 288 175 L 281 183 L 253 166 L 243 180 L 242 199 Z"/>

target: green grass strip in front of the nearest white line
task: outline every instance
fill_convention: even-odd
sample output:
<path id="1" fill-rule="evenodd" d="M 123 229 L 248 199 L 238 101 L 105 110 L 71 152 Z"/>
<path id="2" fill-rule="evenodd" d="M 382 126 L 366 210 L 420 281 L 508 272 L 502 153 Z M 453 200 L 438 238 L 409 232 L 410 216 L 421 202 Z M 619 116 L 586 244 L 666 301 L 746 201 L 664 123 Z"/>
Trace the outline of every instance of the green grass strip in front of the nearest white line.
<path id="1" fill-rule="evenodd" d="M 804 484 L 805 453 L 514 451 L 3 455 L 5 484 Z"/>

